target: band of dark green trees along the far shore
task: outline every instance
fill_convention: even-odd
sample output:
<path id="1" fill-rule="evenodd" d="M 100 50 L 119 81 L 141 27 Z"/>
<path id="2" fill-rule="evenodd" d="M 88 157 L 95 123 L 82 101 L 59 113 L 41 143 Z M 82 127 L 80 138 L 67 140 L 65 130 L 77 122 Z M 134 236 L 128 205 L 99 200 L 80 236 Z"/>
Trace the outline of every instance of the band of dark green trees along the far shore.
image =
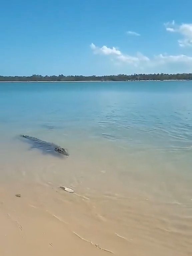
<path id="1" fill-rule="evenodd" d="M 0 76 L 0 82 L 35 82 L 35 81 L 139 81 L 139 80 L 192 80 L 192 73 L 187 74 L 134 74 L 116 76 Z"/>

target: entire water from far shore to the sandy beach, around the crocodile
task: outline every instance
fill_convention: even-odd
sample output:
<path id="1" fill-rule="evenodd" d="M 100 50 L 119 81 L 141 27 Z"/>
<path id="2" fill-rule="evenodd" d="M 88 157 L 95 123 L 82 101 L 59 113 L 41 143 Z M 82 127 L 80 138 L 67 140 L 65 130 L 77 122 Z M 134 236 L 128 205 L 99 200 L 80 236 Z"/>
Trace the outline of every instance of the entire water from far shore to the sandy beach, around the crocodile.
<path id="1" fill-rule="evenodd" d="M 0 184 L 117 255 L 190 255 L 191 99 L 190 81 L 0 83 Z"/>

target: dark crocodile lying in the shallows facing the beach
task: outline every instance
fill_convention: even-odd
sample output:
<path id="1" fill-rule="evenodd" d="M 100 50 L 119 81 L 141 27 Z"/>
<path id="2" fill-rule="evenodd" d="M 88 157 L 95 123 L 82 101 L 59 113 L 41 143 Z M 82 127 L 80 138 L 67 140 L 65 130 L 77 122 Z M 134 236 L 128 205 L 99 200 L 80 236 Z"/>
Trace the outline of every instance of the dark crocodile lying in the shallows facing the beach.
<path id="1" fill-rule="evenodd" d="M 53 152 L 58 152 L 62 155 L 65 156 L 69 156 L 69 153 L 67 152 L 66 149 L 52 143 L 52 142 L 46 142 L 28 135 L 20 135 L 23 138 L 27 138 L 29 140 L 29 142 L 32 143 L 33 148 L 40 148 L 42 150 L 44 150 L 44 152 L 48 152 L 48 153 L 53 153 Z"/>

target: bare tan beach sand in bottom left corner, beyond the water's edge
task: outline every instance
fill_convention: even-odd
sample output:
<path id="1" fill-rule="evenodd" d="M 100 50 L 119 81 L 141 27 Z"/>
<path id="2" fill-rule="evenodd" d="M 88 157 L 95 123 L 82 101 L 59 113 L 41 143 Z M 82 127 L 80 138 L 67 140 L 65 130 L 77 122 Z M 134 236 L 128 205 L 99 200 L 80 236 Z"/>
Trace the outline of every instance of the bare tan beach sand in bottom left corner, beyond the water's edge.
<path id="1" fill-rule="evenodd" d="M 106 255 L 74 234 L 76 230 L 66 219 L 32 202 L 34 197 L 30 200 L 29 193 L 23 191 L 19 198 L 13 192 L 1 188 L 0 255 Z M 63 207 L 63 211 L 68 210 Z"/>

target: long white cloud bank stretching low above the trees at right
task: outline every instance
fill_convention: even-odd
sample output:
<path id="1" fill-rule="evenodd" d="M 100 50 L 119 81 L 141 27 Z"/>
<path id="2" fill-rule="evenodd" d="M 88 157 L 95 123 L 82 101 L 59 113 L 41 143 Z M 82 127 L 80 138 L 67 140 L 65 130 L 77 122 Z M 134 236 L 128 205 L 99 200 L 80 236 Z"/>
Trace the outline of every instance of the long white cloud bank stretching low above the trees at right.
<path id="1" fill-rule="evenodd" d="M 192 57 L 187 55 L 163 55 L 159 54 L 149 58 L 141 53 L 137 53 L 136 55 L 127 55 L 123 54 L 117 48 L 112 47 L 109 48 L 107 46 L 102 46 L 99 48 L 98 46 L 94 45 L 93 43 L 90 45 L 91 49 L 95 54 L 100 55 L 108 55 L 112 57 L 112 61 L 118 64 L 124 64 L 127 66 L 134 66 L 139 69 L 143 69 L 143 67 L 160 67 L 166 66 L 168 64 L 182 64 L 187 67 L 192 65 Z"/>

